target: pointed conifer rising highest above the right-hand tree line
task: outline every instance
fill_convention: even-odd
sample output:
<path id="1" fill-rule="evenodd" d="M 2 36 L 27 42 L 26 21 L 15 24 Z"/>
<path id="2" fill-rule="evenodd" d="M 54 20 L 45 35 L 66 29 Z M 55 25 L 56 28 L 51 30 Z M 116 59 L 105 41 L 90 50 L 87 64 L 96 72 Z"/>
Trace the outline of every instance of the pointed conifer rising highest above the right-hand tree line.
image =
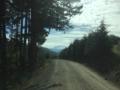
<path id="1" fill-rule="evenodd" d="M 85 54 L 89 57 L 100 58 L 110 53 L 110 42 L 106 31 L 106 26 L 102 22 L 95 32 L 88 35 Z"/>

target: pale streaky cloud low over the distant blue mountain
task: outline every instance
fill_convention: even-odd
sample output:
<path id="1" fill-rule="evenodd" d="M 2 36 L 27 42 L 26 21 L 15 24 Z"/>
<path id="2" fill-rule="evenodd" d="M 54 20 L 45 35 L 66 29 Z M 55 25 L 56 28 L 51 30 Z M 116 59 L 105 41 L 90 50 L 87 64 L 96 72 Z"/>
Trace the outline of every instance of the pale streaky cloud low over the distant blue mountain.
<path id="1" fill-rule="evenodd" d="M 66 33 L 57 32 L 53 30 L 51 34 L 47 37 L 47 41 L 43 44 L 43 46 L 48 48 L 54 48 L 56 46 L 67 47 L 75 39 L 80 39 L 84 35 L 86 35 L 88 31 L 86 31 L 85 29 L 88 29 L 88 27 L 87 28 L 77 27 L 67 31 Z"/>

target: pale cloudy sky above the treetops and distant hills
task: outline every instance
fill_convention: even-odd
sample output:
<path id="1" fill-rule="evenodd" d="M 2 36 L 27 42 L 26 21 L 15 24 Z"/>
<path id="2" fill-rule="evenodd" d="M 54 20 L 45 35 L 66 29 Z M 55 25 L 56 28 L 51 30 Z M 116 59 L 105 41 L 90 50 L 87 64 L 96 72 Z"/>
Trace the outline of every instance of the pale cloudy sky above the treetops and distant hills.
<path id="1" fill-rule="evenodd" d="M 70 23 L 73 29 L 66 32 L 52 30 L 43 47 L 50 49 L 63 49 L 75 39 L 94 30 L 104 19 L 109 34 L 120 36 L 120 0 L 81 0 L 82 14 L 73 16 Z"/>

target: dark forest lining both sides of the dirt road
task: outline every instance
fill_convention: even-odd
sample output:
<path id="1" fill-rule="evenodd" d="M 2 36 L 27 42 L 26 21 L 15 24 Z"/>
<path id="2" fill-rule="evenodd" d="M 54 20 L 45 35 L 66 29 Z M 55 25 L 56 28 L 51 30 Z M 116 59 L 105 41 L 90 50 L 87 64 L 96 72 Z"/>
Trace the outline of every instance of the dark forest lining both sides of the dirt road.
<path id="1" fill-rule="evenodd" d="M 0 1 L 0 90 L 21 90 L 16 86 L 53 58 L 82 63 L 103 75 L 110 74 L 106 79 L 120 82 L 120 37 L 109 34 L 104 20 L 59 56 L 42 47 L 51 30 L 73 28 L 71 18 L 82 14 L 84 7 L 76 2 L 80 0 Z"/>

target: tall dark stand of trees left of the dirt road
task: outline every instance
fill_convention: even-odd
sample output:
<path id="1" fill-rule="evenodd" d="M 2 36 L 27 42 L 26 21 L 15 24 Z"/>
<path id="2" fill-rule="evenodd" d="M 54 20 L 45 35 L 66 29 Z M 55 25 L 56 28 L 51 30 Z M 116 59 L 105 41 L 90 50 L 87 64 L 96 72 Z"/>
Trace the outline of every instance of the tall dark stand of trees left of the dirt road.
<path id="1" fill-rule="evenodd" d="M 70 18 L 81 13 L 82 6 L 72 3 L 72 0 L 0 1 L 0 90 L 8 90 L 21 74 L 24 76 L 36 65 L 44 64 L 40 46 L 50 30 L 70 28 Z"/>

